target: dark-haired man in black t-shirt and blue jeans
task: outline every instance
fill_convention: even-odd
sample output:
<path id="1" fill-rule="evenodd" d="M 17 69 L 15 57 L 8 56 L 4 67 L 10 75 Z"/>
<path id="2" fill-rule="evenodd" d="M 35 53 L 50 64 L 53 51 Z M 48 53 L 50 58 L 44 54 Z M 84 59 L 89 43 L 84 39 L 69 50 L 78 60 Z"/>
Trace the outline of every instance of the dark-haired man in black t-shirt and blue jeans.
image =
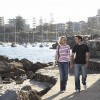
<path id="1" fill-rule="evenodd" d="M 87 67 L 89 63 L 89 48 L 87 45 L 82 43 L 82 37 L 75 36 L 76 45 L 72 49 L 71 55 L 71 67 L 74 62 L 74 73 L 75 73 L 75 90 L 80 92 L 80 71 L 82 72 L 82 84 L 83 88 L 86 89 L 86 78 L 87 78 Z M 75 59 L 75 60 L 74 60 Z"/>

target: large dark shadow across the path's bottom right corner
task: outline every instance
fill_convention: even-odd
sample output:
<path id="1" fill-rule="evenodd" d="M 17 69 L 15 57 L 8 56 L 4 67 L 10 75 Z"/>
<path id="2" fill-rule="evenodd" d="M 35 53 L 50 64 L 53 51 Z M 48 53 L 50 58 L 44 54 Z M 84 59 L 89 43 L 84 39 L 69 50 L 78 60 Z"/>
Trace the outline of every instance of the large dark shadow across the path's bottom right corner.
<path id="1" fill-rule="evenodd" d="M 73 93 L 59 100 L 100 100 L 100 79 L 87 90 Z"/>

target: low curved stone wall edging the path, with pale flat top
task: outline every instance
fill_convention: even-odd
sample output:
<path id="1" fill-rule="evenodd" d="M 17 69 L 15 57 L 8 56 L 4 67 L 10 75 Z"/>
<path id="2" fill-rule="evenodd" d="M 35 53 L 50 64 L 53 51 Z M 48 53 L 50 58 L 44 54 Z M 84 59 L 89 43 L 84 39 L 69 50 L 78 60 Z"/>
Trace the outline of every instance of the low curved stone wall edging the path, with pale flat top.
<path id="1" fill-rule="evenodd" d="M 47 85 L 47 88 L 40 92 L 40 95 L 43 96 L 47 93 L 57 82 L 58 78 L 58 69 L 55 71 L 53 67 L 46 67 L 44 69 L 39 69 L 35 73 L 35 80 L 40 82 L 50 83 L 51 86 Z"/>

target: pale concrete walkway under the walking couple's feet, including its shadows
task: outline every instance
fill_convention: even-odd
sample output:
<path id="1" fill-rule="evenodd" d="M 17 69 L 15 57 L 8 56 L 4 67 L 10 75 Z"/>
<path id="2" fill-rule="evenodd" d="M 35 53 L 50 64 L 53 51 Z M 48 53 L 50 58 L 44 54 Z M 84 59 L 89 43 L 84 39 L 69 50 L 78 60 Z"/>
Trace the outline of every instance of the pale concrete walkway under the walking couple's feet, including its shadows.
<path id="1" fill-rule="evenodd" d="M 88 74 L 86 90 L 83 90 L 81 84 L 81 92 L 75 93 L 74 76 L 69 75 L 67 89 L 64 93 L 59 92 L 59 78 L 56 85 L 45 94 L 43 100 L 100 100 L 100 73 Z"/>

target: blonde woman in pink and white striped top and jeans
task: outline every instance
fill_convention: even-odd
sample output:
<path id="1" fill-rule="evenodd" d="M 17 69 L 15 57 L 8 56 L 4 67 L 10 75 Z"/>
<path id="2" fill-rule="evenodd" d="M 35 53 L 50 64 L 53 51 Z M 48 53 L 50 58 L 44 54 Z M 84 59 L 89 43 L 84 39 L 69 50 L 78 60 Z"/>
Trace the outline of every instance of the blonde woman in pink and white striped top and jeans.
<path id="1" fill-rule="evenodd" d="M 70 61 L 70 47 L 66 44 L 65 36 L 61 36 L 58 40 L 55 58 L 56 62 L 58 62 L 60 73 L 60 91 L 64 92 L 66 90 L 66 83 L 68 80 L 68 67 Z"/>

